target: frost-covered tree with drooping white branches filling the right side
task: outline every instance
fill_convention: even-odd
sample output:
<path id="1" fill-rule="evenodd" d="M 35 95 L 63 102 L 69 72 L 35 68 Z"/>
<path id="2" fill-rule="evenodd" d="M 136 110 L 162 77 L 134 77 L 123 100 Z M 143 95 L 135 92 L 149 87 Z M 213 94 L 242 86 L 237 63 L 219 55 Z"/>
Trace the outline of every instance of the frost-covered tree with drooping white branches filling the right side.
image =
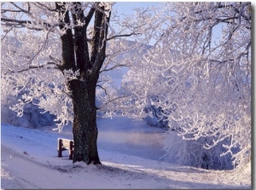
<path id="1" fill-rule="evenodd" d="M 196 147 L 201 153 L 211 149 L 222 157 L 229 154 L 234 166 L 247 163 L 251 157 L 251 3 L 166 3 L 162 7 L 155 9 L 152 19 L 160 20 L 152 23 L 159 26 L 153 47 L 125 77 L 123 92 L 129 98 L 121 108 L 153 117 L 154 112 L 145 108 L 160 107 L 160 120 L 188 141 L 179 155 Z M 166 154 L 172 137 L 168 132 Z M 205 160 L 202 154 L 195 155 Z"/>

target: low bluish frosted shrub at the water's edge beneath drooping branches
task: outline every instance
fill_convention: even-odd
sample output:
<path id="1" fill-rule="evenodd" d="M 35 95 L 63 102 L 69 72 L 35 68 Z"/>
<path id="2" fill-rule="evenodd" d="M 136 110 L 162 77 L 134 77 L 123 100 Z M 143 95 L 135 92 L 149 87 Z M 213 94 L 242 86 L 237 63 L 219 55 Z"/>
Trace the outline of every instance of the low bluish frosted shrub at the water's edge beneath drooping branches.
<path id="1" fill-rule="evenodd" d="M 211 149 L 204 148 L 204 145 L 211 141 L 209 137 L 201 137 L 198 140 L 184 141 L 182 136 L 177 135 L 177 131 L 169 130 L 164 135 L 165 152 L 161 159 L 207 170 L 230 170 L 234 168 L 232 165 L 232 157 L 230 154 L 220 156 L 225 148 L 224 143 L 218 143 Z M 229 143 L 229 140 L 225 140 Z M 233 152 L 238 152 L 238 147 Z"/>

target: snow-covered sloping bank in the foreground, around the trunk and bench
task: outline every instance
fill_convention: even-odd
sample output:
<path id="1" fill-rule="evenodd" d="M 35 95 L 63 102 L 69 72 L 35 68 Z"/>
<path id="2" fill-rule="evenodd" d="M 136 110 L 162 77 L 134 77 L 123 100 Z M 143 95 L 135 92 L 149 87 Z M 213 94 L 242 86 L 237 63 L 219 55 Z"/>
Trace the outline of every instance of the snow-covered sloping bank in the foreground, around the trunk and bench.
<path id="1" fill-rule="evenodd" d="M 250 188 L 249 167 L 202 170 L 101 148 L 102 165 L 73 164 L 56 157 L 59 134 L 1 128 L 2 188 Z"/>

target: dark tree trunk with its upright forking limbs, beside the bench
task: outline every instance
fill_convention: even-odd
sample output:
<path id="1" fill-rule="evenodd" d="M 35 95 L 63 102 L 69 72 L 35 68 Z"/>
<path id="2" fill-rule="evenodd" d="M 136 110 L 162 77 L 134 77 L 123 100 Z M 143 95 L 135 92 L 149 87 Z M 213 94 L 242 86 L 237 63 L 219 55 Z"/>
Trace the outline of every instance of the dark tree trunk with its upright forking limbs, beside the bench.
<path id="1" fill-rule="evenodd" d="M 108 6 L 100 6 L 100 3 L 96 3 L 96 7 L 92 6 L 85 16 L 81 3 L 73 3 L 73 5 L 75 11 L 70 12 L 67 10 L 66 3 L 55 3 L 60 18 L 64 15 L 64 19 L 60 19 L 60 29 L 66 30 L 66 33 L 61 35 L 62 66 L 60 69 L 62 72 L 69 69 L 73 72 L 79 71 L 79 78 L 68 82 L 73 96 L 73 163 L 84 161 L 86 164 L 101 164 L 96 145 L 98 130 L 95 99 L 96 83 L 106 57 L 110 12 L 107 17 L 104 13 L 109 11 Z M 85 22 L 84 25 L 75 26 L 73 29 L 65 28 L 71 25 L 70 14 L 75 25 L 80 21 Z M 95 14 L 94 31 L 91 51 L 89 51 L 86 32 L 93 14 Z"/>

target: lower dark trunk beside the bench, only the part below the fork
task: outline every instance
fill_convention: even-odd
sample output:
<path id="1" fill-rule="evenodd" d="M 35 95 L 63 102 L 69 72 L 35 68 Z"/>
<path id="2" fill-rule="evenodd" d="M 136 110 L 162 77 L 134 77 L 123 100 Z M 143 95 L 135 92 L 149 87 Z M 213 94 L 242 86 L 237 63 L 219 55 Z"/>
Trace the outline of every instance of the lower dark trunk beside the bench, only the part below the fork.
<path id="1" fill-rule="evenodd" d="M 101 164 L 96 145 L 96 83 L 75 79 L 69 88 L 73 91 L 73 163 Z"/>

